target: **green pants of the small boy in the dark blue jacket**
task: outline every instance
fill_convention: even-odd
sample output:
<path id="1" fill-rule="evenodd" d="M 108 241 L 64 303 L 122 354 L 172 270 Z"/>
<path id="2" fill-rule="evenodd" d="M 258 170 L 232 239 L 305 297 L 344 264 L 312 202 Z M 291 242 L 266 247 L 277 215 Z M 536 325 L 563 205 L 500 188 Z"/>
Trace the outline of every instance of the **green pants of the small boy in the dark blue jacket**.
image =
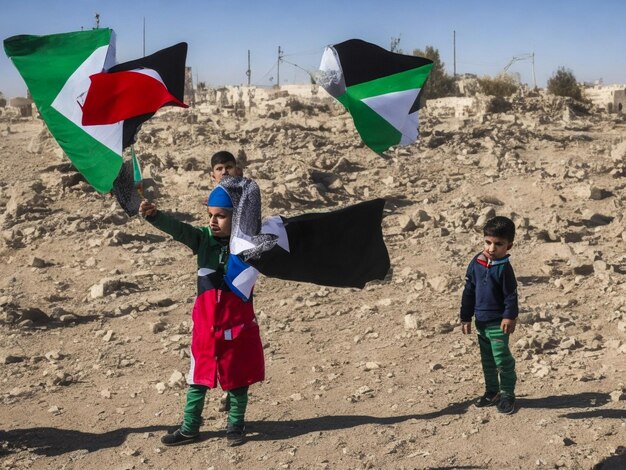
<path id="1" fill-rule="evenodd" d="M 485 375 L 485 391 L 515 397 L 515 359 L 509 349 L 509 335 L 502 332 L 500 323 L 476 322 L 480 361 Z"/>

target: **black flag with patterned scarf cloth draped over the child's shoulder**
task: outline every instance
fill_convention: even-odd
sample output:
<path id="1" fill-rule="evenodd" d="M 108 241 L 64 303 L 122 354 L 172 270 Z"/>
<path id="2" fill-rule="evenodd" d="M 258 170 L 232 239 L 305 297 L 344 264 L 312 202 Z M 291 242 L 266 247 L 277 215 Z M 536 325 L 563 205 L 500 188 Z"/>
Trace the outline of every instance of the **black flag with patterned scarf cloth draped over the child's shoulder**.
<path id="1" fill-rule="evenodd" d="M 261 223 L 261 194 L 254 181 L 224 176 L 219 185 L 233 203 L 224 280 L 244 301 L 250 300 L 259 272 L 288 281 L 356 288 L 387 275 L 383 199 L 332 212 L 275 215 Z"/>

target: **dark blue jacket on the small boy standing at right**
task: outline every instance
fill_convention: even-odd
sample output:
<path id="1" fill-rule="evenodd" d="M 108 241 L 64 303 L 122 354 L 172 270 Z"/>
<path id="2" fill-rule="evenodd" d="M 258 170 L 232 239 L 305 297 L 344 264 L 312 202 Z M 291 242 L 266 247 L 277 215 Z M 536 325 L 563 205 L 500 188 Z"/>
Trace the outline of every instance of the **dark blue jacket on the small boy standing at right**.
<path id="1" fill-rule="evenodd" d="M 467 267 L 461 321 L 471 321 L 474 314 L 479 322 L 517 318 L 517 280 L 509 255 L 491 262 L 481 255 L 474 256 Z"/>

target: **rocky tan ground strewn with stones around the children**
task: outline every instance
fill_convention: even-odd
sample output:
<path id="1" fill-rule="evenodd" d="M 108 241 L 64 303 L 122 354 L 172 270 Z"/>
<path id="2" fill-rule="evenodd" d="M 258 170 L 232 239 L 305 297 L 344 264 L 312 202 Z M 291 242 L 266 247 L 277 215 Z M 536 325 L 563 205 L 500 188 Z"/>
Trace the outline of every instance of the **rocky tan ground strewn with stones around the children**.
<path id="1" fill-rule="evenodd" d="M 222 148 L 265 215 L 387 200 L 385 281 L 259 280 L 267 380 L 238 448 L 218 391 L 199 442 L 159 441 L 182 415 L 192 254 L 91 190 L 39 120 L 0 118 L 0 466 L 626 468 L 626 121 L 541 96 L 461 117 L 432 102 L 420 142 L 378 156 L 337 106 L 293 103 L 161 111 L 136 146 L 149 197 L 196 224 Z M 494 214 L 518 227 L 510 416 L 471 404 L 479 353 L 457 319 Z"/>

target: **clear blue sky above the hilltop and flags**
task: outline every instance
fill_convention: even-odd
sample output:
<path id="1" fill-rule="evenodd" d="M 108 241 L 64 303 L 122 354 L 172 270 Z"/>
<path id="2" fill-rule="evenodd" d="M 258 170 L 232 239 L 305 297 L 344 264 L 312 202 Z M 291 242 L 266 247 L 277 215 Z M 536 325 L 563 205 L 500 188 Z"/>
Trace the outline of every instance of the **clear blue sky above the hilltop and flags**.
<path id="1" fill-rule="evenodd" d="M 187 65 L 194 81 L 209 85 L 276 83 L 278 46 L 285 61 L 308 71 L 319 65 L 324 46 L 360 38 L 411 53 L 432 45 L 446 69 L 496 75 L 515 56 L 535 53 L 538 86 L 559 66 L 579 81 L 626 82 L 626 0 L 0 0 L 0 39 L 100 26 L 117 34 L 117 60 L 143 55 L 180 41 L 189 43 Z M 510 72 L 532 84 L 530 61 Z M 273 80 L 273 82 L 271 81 Z M 283 63 L 280 82 L 307 83 L 308 75 Z M 24 96 L 26 86 L 0 52 L 0 91 Z"/>

